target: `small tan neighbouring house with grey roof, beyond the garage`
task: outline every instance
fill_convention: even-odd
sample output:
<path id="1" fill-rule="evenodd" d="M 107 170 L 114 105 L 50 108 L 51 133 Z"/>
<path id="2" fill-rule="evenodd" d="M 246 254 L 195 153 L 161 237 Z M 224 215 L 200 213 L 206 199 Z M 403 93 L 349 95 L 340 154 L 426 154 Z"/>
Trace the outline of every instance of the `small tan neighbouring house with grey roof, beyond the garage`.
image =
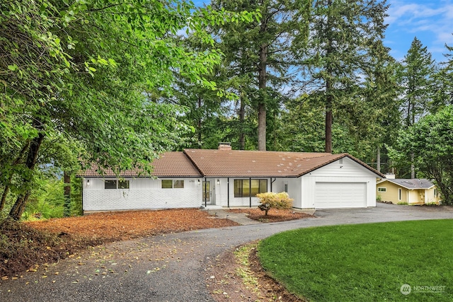
<path id="1" fill-rule="evenodd" d="M 430 204 L 439 203 L 439 194 L 436 186 L 425 178 L 379 180 L 376 185 L 376 196 L 383 202 L 394 204 Z"/>

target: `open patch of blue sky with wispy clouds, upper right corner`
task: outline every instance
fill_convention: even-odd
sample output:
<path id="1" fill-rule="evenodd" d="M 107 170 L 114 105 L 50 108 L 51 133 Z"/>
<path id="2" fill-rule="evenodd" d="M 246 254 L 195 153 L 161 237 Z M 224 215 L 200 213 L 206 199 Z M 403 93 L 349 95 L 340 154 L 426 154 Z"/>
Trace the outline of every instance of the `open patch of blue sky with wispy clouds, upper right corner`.
<path id="1" fill-rule="evenodd" d="M 384 44 L 402 60 L 418 37 L 437 62 L 445 60 L 445 43 L 453 46 L 453 0 L 388 0 L 390 8 Z"/>

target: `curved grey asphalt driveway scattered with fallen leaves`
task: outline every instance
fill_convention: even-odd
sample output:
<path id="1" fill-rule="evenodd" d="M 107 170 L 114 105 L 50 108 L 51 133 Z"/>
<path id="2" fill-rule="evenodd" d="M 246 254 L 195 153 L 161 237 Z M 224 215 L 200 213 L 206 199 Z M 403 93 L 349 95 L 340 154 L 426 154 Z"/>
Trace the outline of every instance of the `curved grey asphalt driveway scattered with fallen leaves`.
<path id="1" fill-rule="evenodd" d="M 309 226 L 453 219 L 449 207 L 378 204 L 316 211 L 317 218 L 153 236 L 92 248 L 2 281 L 0 301 L 213 301 L 205 284 L 210 260 L 274 233 Z"/>

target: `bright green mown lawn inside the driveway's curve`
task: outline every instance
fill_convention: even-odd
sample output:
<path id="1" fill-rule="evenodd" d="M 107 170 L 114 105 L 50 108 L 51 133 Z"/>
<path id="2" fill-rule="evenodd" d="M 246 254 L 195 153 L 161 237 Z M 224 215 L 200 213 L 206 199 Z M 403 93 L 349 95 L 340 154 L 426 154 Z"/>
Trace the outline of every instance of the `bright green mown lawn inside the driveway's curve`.
<path id="1" fill-rule="evenodd" d="M 453 301 L 452 228 L 453 220 L 302 228 L 263 240 L 258 255 L 311 301 Z"/>

